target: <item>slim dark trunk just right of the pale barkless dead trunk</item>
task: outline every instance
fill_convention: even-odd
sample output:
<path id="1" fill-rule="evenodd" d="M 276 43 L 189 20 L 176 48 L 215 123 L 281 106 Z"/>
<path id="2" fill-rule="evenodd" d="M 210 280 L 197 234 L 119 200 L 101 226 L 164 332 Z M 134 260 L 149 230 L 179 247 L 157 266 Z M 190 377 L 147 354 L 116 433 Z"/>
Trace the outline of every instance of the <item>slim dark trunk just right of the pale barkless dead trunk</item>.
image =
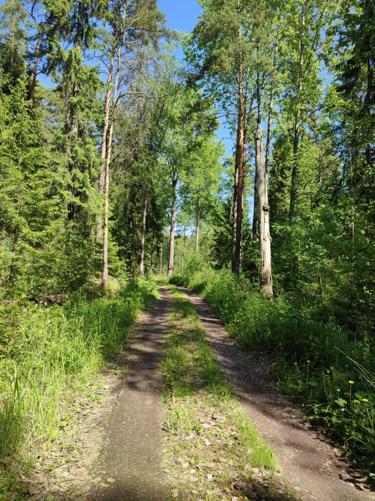
<path id="1" fill-rule="evenodd" d="M 301 29 L 299 33 L 299 63 L 298 63 L 298 91 L 296 94 L 297 100 L 297 113 L 294 120 L 294 132 L 293 132 L 293 166 L 291 171 L 291 189 L 290 189 L 290 206 L 289 206 L 289 219 L 292 219 L 295 215 L 295 204 L 297 200 L 297 180 L 298 180 L 298 147 L 299 147 L 299 127 L 300 127 L 300 104 L 299 99 L 302 93 L 302 80 L 303 80 L 303 37 L 304 37 L 304 7 L 302 7 L 301 13 Z"/>

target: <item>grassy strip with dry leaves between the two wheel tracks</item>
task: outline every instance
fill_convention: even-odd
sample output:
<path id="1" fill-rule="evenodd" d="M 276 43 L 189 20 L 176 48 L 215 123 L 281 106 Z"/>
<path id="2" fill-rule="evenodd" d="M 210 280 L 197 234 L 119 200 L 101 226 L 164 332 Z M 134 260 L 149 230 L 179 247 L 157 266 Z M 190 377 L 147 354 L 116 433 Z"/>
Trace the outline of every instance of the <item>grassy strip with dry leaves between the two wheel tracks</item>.
<path id="1" fill-rule="evenodd" d="M 170 496 L 204 499 L 294 499 L 269 445 L 240 407 L 205 339 L 187 296 L 175 287 L 164 345 L 165 473 Z"/>

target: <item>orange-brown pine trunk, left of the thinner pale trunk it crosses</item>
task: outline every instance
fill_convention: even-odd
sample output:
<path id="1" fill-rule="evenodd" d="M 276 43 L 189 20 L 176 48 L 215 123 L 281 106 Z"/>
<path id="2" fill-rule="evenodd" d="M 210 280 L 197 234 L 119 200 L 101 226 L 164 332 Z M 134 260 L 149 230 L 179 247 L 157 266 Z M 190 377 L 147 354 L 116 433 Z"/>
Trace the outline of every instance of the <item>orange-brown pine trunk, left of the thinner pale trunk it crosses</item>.
<path id="1" fill-rule="evenodd" d="M 120 2 L 117 4 L 117 13 L 119 13 Z M 99 185 L 97 188 L 97 192 L 100 195 L 103 194 L 104 191 L 104 177 L 105 177 L 105 167 L 106 167 L 106 150 L 107 150 L 107 134 L 108 134 L 108 126 L 109 126 L 109 112 L 110 112 L 110 99 L 112 96 L 112 81 L 113 81 L 113 68 L 114 68 L 114 55 L 116 53 L 117 40 L 119 34 L 119 26 L 118 26 L 118 16 L 114 25 L 114 33 L 113 33 L 113 45 L 109 55 L 109 68 L 108 68 L 108 78 L 107 78 L 107 92 L 105 94 L 105 109 L 104 109 L 104 124 L 103 124 L 103 133 L 101 140 L 101 154 L 100 154 L 100 172 L 99 172 Z M 101 208 L 96 217 L 96 241 L 101 242 L 102 238 L 102 213 Z"/>

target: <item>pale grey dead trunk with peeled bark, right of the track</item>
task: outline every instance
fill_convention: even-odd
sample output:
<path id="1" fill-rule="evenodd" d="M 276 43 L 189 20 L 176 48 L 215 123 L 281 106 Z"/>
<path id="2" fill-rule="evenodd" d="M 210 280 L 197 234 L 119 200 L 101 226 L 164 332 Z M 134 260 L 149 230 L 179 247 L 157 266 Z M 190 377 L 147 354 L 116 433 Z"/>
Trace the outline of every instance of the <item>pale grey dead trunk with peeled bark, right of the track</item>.
<path id="1" fill-rule="evenodd" d="M 258 234 L 260 248 L 259 285 L 262 294 L 269 299 L 273 297 L 271 269 L 271 235 L 269 231 L 269 205 L 267 174 L 264 162 L 264 146 L 261 124 L 258 123 L 255 139 L 255 155 L 257 166 L 256 186 L 258 193 Z"/>

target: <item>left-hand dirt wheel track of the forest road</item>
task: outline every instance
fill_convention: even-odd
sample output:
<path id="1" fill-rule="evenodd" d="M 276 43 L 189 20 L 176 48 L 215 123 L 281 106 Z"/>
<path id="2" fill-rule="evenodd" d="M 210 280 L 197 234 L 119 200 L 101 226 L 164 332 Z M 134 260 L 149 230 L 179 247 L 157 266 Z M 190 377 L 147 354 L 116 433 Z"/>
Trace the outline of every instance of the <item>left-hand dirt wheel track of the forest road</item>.
<path id="1" fill-rule="evenodd" d="M 134 325 L 141 332 L 136 359 L 123 378 L 118 404 L 108 423 L 99 462 L 100 474 L 112 480 L 91 496 L 96 501 L 159 501 L 164 486 L 159 432 L 162 424 L 160 392 L 161 347 L 168 331 L 171 293 L 159 287 L 160 299 Z"/>

